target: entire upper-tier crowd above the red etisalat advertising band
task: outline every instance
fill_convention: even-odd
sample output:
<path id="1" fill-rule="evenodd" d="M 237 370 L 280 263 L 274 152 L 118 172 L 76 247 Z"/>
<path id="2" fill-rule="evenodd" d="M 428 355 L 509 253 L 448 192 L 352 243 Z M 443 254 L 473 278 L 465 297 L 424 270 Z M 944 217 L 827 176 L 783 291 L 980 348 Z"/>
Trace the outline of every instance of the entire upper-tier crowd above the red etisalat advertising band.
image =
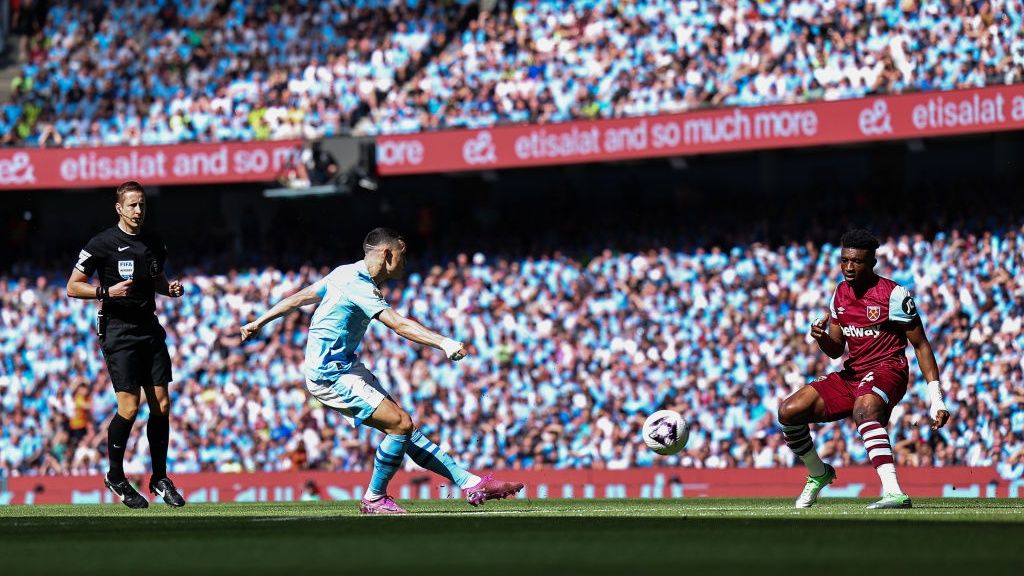
<path id="1" fill-rule="evenodd" d="M 2 143 L 393 133 L 1024 76 L 1017 0 L 477 4 L 51 1 L 0 114 Z"/>

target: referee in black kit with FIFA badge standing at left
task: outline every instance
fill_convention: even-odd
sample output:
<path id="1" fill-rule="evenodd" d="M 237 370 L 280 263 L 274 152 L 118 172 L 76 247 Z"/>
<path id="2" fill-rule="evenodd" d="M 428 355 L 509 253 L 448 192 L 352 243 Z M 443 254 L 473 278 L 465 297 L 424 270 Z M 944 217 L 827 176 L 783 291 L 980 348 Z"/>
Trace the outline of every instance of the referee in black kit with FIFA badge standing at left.
<path id="1" fill-rule="evenodd" d="M 150 405 L 145 431 L 153 459 L 150 492 L 168 505 L 183 506 L 184 498 L 167 478 L 171 358 L 164 342 L 167 333 L 157 321 L 155 294 L 177 298 L 184 290 L 180 282 L 168 282 L 164 276 L 164 241 L 152 232 L 142 232 L 142 186 L 127 181 L 118 187 L 114 209 L 118 223 L 89 240 L 68 281 L 72 298 L 99 300 L 96 333 L 118 397 L 118 411 L 106 430 L 110 471 L 103 484 L 129 508 L 150 505 L 124 472 L 125 446 L 138 414 L 139 393 L 145 390 Z M 89 283 L 93 273 L 98 273 L 99 286 Z"/>

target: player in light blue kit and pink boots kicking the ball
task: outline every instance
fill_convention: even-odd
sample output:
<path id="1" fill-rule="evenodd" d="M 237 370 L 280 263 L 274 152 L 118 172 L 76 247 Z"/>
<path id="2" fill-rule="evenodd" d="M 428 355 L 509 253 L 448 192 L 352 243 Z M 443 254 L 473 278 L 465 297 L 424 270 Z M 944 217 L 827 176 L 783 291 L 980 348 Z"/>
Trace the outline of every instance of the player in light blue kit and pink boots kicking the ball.
<path id="1" fill-rule="evenodd" d="M 306 389 L 354 425 L 367 424 L 387 435 L 377 448 L 370 487 L 359 503 L 360 512 L 406 513 L 387 494 L 388 482 L 406 454 L 464 490 L 474 506 L 522 490 L 522 484 L 496 480 L 490 475 L 480 478 L 456 464 L 451 455 L 416 429 L 410 415 L 358 361 L 355 348 L 374 319 L 399 336 L 443 351 L 452 361 L 458 362 L 467 354 L 462 342 L 403 318 L 384 300 L 378 287 L 400 278 L 406 266 L 406 241 L 400 235 L 389 229 L 375 229 L 367 235 L 362 250 L 362 260 L 336 268 L 243 326 L 242 340 L 300 306 L 317 304 L 306 343 Z"/>

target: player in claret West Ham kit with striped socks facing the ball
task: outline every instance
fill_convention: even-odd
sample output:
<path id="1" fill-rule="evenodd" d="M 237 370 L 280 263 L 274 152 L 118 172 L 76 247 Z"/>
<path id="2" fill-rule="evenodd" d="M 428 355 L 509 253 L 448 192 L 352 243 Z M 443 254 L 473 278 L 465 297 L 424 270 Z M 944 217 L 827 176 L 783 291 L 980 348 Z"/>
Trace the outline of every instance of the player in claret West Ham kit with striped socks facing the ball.
<path id="1" fill-rule="evenodd" d="M 863 230 L 852 230 L 843 236 L 840 268 L 845 280 L 833 294 L 830 320 L 816 320 L 810 335 L 829 358 L 842 357 L 847 347 L 849 357 L 842 371 L 819 377 L 778 407 L 785 443 L 809 472 L 804 491 L 797 498 L 798 508 L 812 506 L 821 489 L 836 480 L 836 469 L 818 457 L 807 424 L 831 422 L 851 415 L 882 481 L 882 499 L 867 507 L 910 507 L 910 497 L 896 480 L 886 429 L 889 414 L 906 394 L 907 341 L 913 346 L 928 381 L 932 429 L 939 429 L 949 418 L 939 386 L 935 354 L 913 298 L 905 288 L 873 272 L 878 247 L 879 241 Z"/>

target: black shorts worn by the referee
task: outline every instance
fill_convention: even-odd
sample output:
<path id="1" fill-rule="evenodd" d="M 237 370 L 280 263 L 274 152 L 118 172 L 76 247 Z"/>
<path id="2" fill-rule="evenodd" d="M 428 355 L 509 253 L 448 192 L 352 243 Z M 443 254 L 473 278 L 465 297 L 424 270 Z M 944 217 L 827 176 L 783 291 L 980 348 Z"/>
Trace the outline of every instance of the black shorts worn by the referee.
<path id="1" fill-rule="evenodd" d="M 116 392 L 138 394 L 142 386 L 166 386 L 171 381 L 166 338 L 167 332 L 156 316 L 138 323 L 106 320 L 99 344 Z"/>

